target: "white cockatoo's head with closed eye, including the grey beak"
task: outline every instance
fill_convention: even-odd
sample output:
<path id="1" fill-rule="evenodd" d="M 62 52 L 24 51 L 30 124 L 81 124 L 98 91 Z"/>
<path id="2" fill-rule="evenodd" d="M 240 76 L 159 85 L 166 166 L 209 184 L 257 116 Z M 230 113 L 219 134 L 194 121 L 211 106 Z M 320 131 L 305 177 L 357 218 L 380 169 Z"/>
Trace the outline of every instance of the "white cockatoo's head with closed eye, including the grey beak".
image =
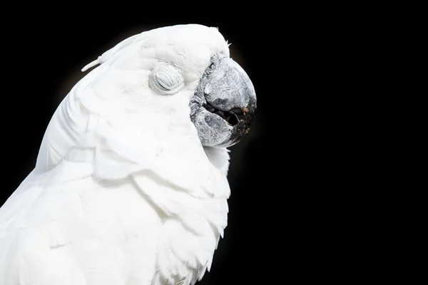
<path id="1" fill-rule="evenodd" d="M 103 63 L 102 80 L 92 78 L 93 90 L 101 97 L 115 94 L 107 98 L 110 109 L 144 113 L 157 122 L 165 115 L 177 123 L 190 120 L 203 146 L 234 145 L 250 130 L 253 83 L 230 58 L 217 28 L 156 28 L 119 43 L 83 70 L 97 63 Z"/>

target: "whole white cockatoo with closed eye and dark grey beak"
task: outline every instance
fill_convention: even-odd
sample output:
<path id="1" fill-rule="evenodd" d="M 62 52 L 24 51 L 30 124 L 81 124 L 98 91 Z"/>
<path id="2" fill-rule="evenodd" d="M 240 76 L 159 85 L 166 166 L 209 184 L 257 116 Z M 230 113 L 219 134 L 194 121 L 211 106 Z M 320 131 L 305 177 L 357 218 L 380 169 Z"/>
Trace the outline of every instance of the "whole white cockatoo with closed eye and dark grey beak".
<path id="1" fill-rule="evenodd" d="M 131 36 L 93 66 L 0 208 L 0 284 L 195 284 L 227 224 L 226 147 L 248 133 L 253 84 L 200 25 Z"/>

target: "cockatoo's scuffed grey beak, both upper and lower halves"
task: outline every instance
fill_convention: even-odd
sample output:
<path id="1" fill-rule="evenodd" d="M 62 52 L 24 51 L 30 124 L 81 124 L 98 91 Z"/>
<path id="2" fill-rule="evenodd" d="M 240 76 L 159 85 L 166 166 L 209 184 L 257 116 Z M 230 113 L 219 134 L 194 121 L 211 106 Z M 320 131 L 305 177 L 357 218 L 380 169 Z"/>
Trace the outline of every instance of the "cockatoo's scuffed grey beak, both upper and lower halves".
<path id="1" fill-rule="evenodd" d="M 253 83 L 238 63 L 211 58 L 190 102 L 192 120 L 203 145 L 228 147 L 248 133 L 257 99 Z"/>

